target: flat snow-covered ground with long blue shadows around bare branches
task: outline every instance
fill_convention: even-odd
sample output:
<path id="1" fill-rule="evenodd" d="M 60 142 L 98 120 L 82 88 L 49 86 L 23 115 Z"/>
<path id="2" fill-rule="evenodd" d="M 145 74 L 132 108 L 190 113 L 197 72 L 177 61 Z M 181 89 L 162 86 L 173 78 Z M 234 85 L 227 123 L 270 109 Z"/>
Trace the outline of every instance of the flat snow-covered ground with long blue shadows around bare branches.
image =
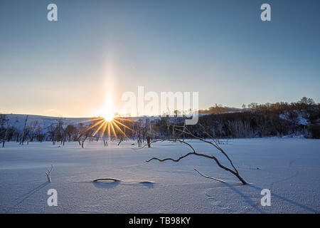
<path id="1" fill-rule="evenodd" d="M 193 140 L 198 152 L 214 148 Z M 179 143 L 160 142 L 132 150 L 132 142 L 6 143 L 0 148 L 1 213 L 319 213 L 320 140 L 242 139 L 222 145 L 240 174 L 241 185 L 213 160 L 189 156 L 180 162 L 149 163 L 150 157 L 189 152 Z M 52 182 L 46 170 L 53 164 Z M 227 165 L 223 159 L 223 164 Z M 227 181 L 226 184 L 201 177 Z M 113 177 L 121 182 L 92 182 Z M 58 191 L 58 206 L 48 207 L 47 191 Z M 262 207 L 262 189 L 271 190 L 271 206 Z"/>

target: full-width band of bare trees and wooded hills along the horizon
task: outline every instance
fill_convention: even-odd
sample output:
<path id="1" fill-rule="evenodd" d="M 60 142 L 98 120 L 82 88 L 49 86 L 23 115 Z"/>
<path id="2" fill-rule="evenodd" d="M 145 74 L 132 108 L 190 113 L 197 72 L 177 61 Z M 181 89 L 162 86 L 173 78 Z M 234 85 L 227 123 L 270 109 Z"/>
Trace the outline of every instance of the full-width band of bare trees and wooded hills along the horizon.
<path id="1" fill-rule="evenodd" d="M 214 138 L 261 138 L 283 135 L 305 135 L 306 137 L 320 138 L 320 105 L 311 98 L 302 98 L 295 103 L 251 103 L 247 108 L 221 113 L 221 106 L 216 105 L 217 113 L 200 115 L 197 125 L 188 125 L 188 130 L 193 135 L 206 138 L 203 128 Z M 209 108 L 213 110 L 215 108 Z M 60 142 L 79 142 L 84 146 L 85 141 L 103 140 L 137 140 L 139 146 L 142 142 L 160 138 L 188 138 L 188 135 L 178 134 L 174 126 L 183 126 L 185 117 L 174 115 L 161 118 L 140 118 L 137 121 L 119 120 L 127 128 L 114 128 L 108 135 L 107 130 L 102 134 L 95 125 L 98 120 L 89 123 L 66 124 L 63 118 L 57 119 L 46 129 L 43 129 L 41 120 L 28 122 L 26 117 L 23 129 L 18 129 L 9 124 L 9 118 L 0 114 L 0 141 L 4 147 L 5 142 L 51 141 L 53 144 Z M 131 129 L 131 130 L 129 130 Z"/>

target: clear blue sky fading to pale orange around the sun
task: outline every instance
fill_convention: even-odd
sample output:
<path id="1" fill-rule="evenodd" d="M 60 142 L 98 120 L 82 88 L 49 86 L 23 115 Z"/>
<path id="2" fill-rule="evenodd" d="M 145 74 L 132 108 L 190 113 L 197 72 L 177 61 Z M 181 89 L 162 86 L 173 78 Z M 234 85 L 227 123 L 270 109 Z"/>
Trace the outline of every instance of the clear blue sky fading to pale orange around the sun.
<path id="1" fill-rule="evenodd" d="M 48 21 L 47 6 L 58 6 Z M 271 21 L 260 19 L 270 4 Z M 320 1 L 0 1 L 0 113 L 90 117 L 122 94 L 320 102 Z"/>

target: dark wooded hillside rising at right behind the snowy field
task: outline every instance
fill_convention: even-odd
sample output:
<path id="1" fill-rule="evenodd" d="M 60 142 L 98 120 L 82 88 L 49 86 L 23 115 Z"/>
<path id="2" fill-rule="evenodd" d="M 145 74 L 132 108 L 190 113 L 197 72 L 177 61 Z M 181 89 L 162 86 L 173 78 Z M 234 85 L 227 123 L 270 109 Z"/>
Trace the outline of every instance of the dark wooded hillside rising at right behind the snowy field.
<path id="1" fill-rule="evenodd" d="M 283 135 L 311 135 L 319 138 L 320 105 L 311 98 L 302 98 L 295 103 L 251 103 L 249 108 L 220 113 L 221 105 L 209 108 L 214 113 L 200 115 L 198 125 L 188 129 L 199 137 L 206 137 L 201 125 L 215 138 L 256 138 Z M 184 118 L 161 118 L 156 125 L 163 137 L 174 137 L 173 125 L 183 125 Z"/>

